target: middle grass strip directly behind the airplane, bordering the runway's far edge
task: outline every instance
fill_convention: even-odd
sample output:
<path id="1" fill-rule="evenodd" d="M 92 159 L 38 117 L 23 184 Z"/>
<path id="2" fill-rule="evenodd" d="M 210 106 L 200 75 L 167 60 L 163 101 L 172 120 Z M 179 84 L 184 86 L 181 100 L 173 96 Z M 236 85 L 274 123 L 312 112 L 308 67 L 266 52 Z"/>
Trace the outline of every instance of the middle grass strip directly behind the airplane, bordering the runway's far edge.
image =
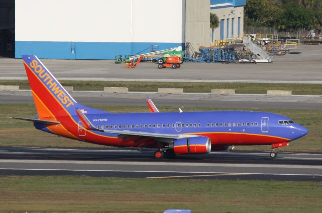
<path id="1" fill-rule="evenodd" d="M 109 112 L 148 112 L 148 107 L 140 106 L 92 106 Z M 34 118 L 36 115 L 33 104 L 0 104 L 0 146 L 37 146 L 37 147 L 100 147 L 90 143 L 75 141 L 39 131 L 31 122 L 14 120 L 6 116 Z M 176 107 L 159 107 L 162 112 L 178 111 Z M 215 111 L 218 108 L 192 107 L 184 111 Z M 232 109 L 229 109 L 232 110 Z M 237 110 L 237 109 L 236 109 Z M 244 109 L 245 110 L 245 109 Z M 250 109 L 263 111 L 259 109 Z M 322 152 L 322 126 L 320 118 L 322 110 L 297 109 L 265 109 L 267 112 L 282 114 L 292 118 L 295 122 L 308 128 L 309 133 L 287 147 L 278 151 Z M 235 150 L 270 150 L 270 146 L 236 146 Z"/>

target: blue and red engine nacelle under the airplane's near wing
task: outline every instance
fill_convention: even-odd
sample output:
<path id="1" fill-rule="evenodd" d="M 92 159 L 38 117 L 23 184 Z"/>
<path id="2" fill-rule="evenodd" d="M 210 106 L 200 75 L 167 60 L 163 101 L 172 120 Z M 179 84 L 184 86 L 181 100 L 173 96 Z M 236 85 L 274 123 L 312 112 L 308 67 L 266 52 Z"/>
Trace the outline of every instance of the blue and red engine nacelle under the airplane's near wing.
<path id="1" fill-rule="evenodd" d="M 211 151 L 211 140 L 207 137 L 188 137 L 174 140 L 169 144 L 175 154 L 206 154 Z"/>

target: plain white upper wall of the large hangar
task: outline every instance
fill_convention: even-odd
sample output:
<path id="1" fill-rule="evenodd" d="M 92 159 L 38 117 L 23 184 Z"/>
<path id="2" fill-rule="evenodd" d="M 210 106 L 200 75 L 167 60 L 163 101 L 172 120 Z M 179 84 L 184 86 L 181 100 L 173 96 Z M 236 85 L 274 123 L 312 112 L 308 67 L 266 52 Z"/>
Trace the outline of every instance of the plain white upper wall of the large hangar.
<path id="1" fill-rule="evenodd" d="M 16 0 L 16 41 L 184 42 L 184 0 Z"/>

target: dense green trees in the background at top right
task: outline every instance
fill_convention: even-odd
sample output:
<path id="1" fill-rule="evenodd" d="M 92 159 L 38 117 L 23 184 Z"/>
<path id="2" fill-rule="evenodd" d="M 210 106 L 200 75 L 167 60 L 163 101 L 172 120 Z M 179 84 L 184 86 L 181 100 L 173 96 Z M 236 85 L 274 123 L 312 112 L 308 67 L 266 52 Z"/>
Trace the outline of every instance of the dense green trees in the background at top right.
<path id="1" fill-rule="evenodd" d="M 278 31 L 322 29 L 322 0 L 246 0 L 245 27 Z"/>

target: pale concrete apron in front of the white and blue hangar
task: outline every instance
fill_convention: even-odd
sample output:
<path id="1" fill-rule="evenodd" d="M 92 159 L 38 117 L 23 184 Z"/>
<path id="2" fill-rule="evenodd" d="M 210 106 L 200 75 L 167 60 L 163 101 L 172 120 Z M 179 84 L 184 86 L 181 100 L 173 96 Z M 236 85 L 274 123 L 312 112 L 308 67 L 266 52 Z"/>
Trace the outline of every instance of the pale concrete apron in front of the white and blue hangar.
<path id="1" fill-rule="evenodd" d="M 42 60 L 59 79 L 139 80 L 139 81 L 255 81 L 322 83 L 322 46 L 298 45 L 301 54 L 274 56 L 274 62 L 184 63 L 180 69 L 158 69 L 157 64 L 141 63 L 135 69 L 107 60 Z M 0 58 L 0 79 L 26 78 L 21 59 Z"/>

